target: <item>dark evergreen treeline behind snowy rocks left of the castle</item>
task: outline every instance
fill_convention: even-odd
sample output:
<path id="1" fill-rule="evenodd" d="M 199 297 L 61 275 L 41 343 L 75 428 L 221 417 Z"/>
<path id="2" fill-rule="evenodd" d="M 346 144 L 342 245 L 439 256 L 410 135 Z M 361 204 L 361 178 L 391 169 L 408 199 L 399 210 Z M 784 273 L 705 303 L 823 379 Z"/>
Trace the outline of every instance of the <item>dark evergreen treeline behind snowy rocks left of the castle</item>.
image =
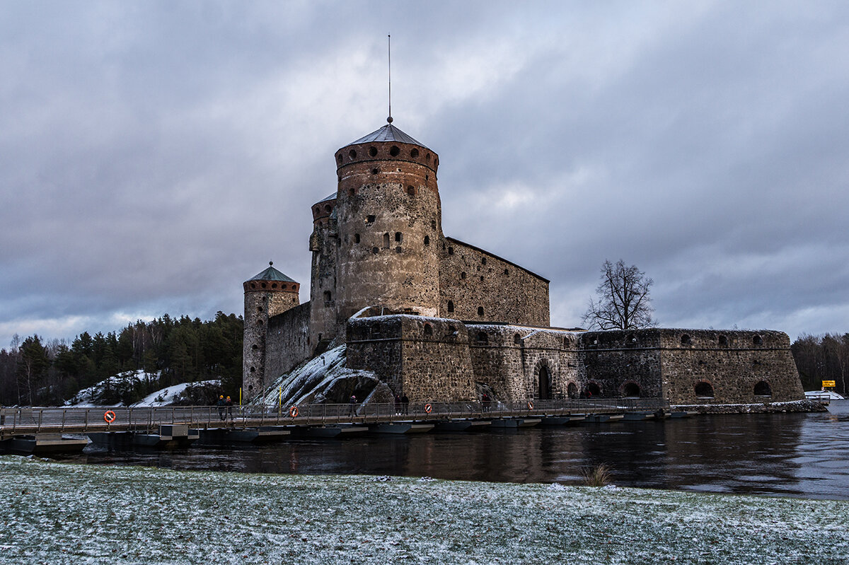
<path id="1" fill-rule="evenodd" d="M 158 378 L 115 383 L 105 404 L 132 404 L 172 384 L 220 378 L 224 394 L 236 395 L 242 381 L 241 316 L 217 312 L 214 320 L 167 314 L 128 324 L 120 332 L 83 332 L 68 344 L 37 335 L 15 335 L 0 350 L 0 405 L 58 406 L 79 390 L 121 372 L 139 369 Z"/>

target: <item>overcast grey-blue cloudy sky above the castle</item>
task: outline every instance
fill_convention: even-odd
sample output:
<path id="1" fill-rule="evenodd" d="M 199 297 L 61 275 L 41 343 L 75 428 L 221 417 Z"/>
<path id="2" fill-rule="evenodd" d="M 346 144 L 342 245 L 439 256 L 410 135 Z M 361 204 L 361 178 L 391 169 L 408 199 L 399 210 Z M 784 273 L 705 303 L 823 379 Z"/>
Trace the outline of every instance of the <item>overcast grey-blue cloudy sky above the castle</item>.
<path id="1" fill-rule="evenodd" d="M 309 206 L 385 124 L 445 233 L 551 280 L 605 259 L 663 327 L 849 331 L 849 3 L 0 0 L 0 347 L 309 299 Z"/>

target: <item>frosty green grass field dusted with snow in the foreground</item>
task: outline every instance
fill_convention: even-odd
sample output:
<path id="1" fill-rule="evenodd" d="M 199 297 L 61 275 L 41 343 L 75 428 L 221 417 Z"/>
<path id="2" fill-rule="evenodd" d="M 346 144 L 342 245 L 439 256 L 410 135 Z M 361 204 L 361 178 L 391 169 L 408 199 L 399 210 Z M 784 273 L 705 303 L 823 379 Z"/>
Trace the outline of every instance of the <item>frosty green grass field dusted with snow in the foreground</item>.
<path id="1" fill-rule="evenodd" d="M 0 456 L 3 563 L 846 563 L 849 502 Z"/>

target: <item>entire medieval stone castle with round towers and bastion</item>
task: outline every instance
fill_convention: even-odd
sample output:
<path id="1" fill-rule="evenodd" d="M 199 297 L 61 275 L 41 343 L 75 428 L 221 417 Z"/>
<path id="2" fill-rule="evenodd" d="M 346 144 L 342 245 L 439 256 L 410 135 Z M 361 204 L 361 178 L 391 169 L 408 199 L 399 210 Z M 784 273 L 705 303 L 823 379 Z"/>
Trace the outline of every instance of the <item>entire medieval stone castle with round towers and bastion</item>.
<path id="1" fill-rule="evenodd" d="M 439 156 L 391 124 L 335 153 L 338 187 L 312 205 L 310 299 L 269 266 L 244 283 L 244 390 L 346 344 L 413 400 L 801 400 L 775 331 L 548 327 L 548 280 L 442 233 Z"/>

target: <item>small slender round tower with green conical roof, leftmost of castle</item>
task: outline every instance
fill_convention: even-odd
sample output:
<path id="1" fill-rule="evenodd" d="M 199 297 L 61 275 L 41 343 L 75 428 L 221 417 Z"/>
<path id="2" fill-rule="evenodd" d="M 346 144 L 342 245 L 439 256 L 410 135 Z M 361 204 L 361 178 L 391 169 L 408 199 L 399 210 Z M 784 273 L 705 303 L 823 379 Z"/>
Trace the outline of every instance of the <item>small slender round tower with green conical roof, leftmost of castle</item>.
<path id="1" fill-rule="evenodd" d="M 268 262 L 268 268 L 251 277 L 245 288 L 245 339 L 242 354 L 242 389 L 250 398 L 265 389 L 268 319 L 301 302 L 299 282 L 286 277 Z"/>

